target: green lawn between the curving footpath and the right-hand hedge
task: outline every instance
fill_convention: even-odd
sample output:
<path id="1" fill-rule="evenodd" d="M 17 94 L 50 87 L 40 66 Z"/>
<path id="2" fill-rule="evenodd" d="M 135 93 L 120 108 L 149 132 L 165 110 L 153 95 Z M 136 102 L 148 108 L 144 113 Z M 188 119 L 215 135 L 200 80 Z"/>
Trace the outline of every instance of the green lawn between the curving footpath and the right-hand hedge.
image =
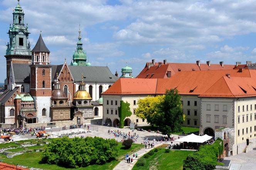
<path id="1" fill-rule="evenodd" d="M 187 155 L 189 155 L 190 153 L 192 153 L 192 151 L 183 150 L 171 150 L 169 153 L 165 153 L 165 148 L 158 148 L 158 152 L 155 152 L 154 155 L 145 158 L 145 166 L 138 167 L 135 164 L 133 170 L 182 170 L 183 160 L 185 160 L 187 158 Z"/>

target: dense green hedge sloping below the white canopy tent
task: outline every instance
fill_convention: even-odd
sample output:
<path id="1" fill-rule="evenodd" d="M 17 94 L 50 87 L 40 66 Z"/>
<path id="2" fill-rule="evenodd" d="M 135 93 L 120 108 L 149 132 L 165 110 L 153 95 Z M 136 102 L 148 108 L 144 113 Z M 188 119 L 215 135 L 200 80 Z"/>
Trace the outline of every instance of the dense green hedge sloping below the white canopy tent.
<path id="1" fill-rule="evenodd" d="M 221 145 L 220 145 L 221 142 Z M 223 141 L 218 138 L 212 145 L 201 145 L 199 149 L 187 156 L 184 160 L 184 170 L 214 170 L 217 165 L 219 148 L 222 148 Z"/>

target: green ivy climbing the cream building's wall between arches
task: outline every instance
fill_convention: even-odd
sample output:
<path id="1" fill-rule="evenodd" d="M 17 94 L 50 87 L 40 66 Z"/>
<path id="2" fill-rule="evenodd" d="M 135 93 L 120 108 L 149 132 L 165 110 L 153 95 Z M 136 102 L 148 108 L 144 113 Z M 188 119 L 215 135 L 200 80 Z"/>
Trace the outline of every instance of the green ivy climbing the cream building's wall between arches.
<path id="1" fill-rule="evenodd" d="M 121 100 L 120 107 L 118 107 L 118 116 L 120 118 L 120 128 L 123 128 L 126 117 L 131 116 L 130 103 Z"/>

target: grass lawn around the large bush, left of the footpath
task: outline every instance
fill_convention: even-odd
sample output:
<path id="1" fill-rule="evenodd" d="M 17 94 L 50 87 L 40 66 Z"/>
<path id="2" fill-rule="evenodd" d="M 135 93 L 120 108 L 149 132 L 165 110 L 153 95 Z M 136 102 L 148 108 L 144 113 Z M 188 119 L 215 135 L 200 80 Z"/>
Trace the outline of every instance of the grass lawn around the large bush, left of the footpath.
<path id="1" fill-rule="evenodd" d="M 25 140 L 24 142 L 27 142 L 27 140 Z M 3 144 L 0 144 L 0 146 Z M 27 149 L 39 149 L 39 148 L 44 148 L 46 145 L 44 146 L 32 146 L 32 147 L 26 147 Z M 130 149 L 125 149 L 122 146 L 122 143 L 118 143 L 118 156 L 117 156 L 117 160 L 112 160 L 111 162 L 105 163 L 104 165 L 90 165 L 86 168 L 78 168 L 78 169 L 86 169 L 86 170 L 94 170 L 94 169 L 98 169 L 98 170 L 108 170 L 108 169 L 113 169 L 119 162 L 120 160 L 123 159 L 123 157 L 125 156 L 126 153 L 128 153 L 129 155 L 136 152 L 137 150 L 140 150 L 141 148 L 143 148 L 144 146 L 141 144 L 136 144 L 133 143 L 132 147 Z M 12 152 L 19 152 L 21 151 L 20 149 L 24 148 L 15 148 L 12 150 L 8 150 L 8 151 L 12 151 Z M 5 155 L 0 154 L 0 159 L 2 160 L 2 162 L 5 163 L 9 163 L 9 164 L 19 164 L 19 165 L 24 165 L 26 167 L 34 167 L 34 168 L 41 168 L 41 169 L 48 169 L 48 170 L 64 170 L 64 169 L 72 169 L 72 168 L 64 168 L 64 167 L 60 167 L 58 165 L 49 165 L 46 163 L 40 163 L 41 160 L 41 154 L 42 152 L 30 152 L 30 153 L 23 153 L 22 155 L 17 155 L 13 158 L 6 158 Z M 72 169 L 74 170 L 74 169 Z"/>

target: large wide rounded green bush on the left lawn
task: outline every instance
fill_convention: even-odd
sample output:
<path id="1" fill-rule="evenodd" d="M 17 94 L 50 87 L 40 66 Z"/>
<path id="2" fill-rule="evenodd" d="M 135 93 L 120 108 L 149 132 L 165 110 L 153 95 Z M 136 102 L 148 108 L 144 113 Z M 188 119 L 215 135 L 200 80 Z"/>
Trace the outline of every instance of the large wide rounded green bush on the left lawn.
<path id="1" fill-rule="evenodd" d="M 99 137 L 56 138 L 42 152 L 42 163 L 71 168 L 103 164 L 116 158 L 117 145 L 115 139 Z"/>

